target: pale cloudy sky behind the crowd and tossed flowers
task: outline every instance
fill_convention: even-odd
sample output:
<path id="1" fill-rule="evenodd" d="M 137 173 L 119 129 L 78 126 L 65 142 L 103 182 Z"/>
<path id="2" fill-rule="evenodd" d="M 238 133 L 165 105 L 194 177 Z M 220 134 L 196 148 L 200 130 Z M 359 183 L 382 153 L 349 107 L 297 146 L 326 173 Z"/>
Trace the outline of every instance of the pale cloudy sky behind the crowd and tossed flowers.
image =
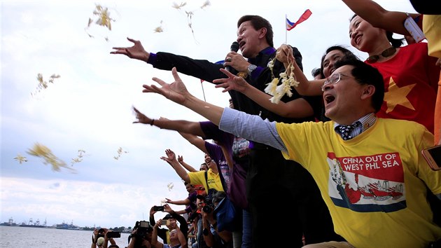
<path id="1" fill-rule="evenodd" d="M 132 106 L 151 118 L 206 119 L 160 95 L 142 93 L 143 84 L 155 83 L 154 76 L 166 82 L 173 77 L 125 55 L 111 55 L 113 47 L 132 46 L 127 37 L 151 53 L 217 62 L 237 38 L 237 20 L 260 15 L 272 23 L 275 47 L 288 43 L 300 50 L 308 78 L 329 46 L 343 45 L 367 57 L 350 46 L 353 13 L 342 1 L 210 0 L 200 8 L 205 2 L 1 0 L 0 222 L 12 217 L 16 223 L 46 220 L 48 226 L 128 227 L 148 220 L 150 208 L 165 198 L 187 197 L 179 176 L 160 157 L 172 149 L 198 169 L 204 153 L 177 132 L 132 124 Z M 172 8 L 174 3 L 186 6 Z M 415 13 L 408 0 L 377 3 L 389 11 Z M 111 30 L 94 22 L 87 28 L 89 18 L 98 19 L 95 4 L 109 8 Z M 286 32 L 285 16 L 295 22 L 307 8 L 311 17 Z M 191 18 L 186 12 L 193 13 Z M 163 31 L 155 32 L 157 27 Z M 38 91 L 38 74 L 43 81 L 52 74 L 59 78 Z M 228 93 L 180 76 L 196 97 L 228 106 Z M 27 151 L 36 143 L 75 171 L 52 171 L 31 156 Z M 79 151 L 84 151 L 82 161 L 72 163 Z M 14 159 L 19 155 L 27 162 Z M 167 186 L 171 183 L 173 188 Z"/>

